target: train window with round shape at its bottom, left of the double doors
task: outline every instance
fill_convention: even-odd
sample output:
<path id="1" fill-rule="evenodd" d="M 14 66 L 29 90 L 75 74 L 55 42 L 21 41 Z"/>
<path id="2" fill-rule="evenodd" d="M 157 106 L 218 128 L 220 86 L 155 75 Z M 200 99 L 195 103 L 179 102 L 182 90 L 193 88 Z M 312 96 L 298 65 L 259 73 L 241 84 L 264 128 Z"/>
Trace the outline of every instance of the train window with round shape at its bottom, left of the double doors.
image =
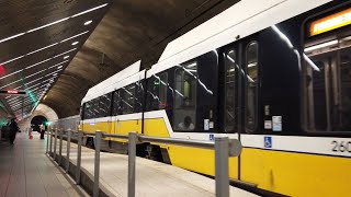
<path id="1" fill-rule="evenodd" d="M 196 125 L 197 62 L 179 66 L 174 71 L 173 126 L 176 130 L 194 130 Z"/>

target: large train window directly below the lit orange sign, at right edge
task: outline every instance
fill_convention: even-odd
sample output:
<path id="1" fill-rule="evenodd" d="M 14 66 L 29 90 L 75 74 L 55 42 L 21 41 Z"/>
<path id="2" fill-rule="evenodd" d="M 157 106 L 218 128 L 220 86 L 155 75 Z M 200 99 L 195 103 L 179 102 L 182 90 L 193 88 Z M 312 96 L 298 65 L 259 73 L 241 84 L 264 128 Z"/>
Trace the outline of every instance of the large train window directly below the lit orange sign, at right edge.
<path id="1" fill-rule="evenodd" d="M 350 131 L 351 37 L 307 43 L 305 60 L 309 130 Z"/>

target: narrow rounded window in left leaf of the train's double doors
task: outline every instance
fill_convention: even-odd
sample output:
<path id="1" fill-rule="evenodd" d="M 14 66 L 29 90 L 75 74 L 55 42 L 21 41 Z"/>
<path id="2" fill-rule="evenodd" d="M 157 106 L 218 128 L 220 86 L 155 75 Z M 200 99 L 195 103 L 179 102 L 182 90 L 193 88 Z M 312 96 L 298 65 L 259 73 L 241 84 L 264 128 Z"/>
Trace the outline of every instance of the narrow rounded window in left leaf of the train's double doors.
<path id="1" fill-rule="evenodd" d="M 236 63 L 236 53 L 235 50 L 229 50 L 225 54 L 225 131 L 234 132 L 235 124 L 237 121 L 236 117 L 236 88 L 237 88 L 237 69 Z"/>

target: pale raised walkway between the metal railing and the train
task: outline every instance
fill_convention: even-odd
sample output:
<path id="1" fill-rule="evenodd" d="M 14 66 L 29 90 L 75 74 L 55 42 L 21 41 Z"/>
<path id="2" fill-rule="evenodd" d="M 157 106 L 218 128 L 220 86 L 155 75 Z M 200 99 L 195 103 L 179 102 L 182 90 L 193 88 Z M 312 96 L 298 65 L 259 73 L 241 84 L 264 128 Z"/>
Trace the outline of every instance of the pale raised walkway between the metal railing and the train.
<path id="1" fill-rule="evenodd" d="M 70 143 L 70 174 L 77 165 L 76 143 Z M 54 143 L 53 143 L 54 150 Z M 56 144 L 56 160 L 58 154 L 59 140 Z M 67 143 L 63 141 L 63 161 L 66 166 Z M 81 150 L 81 185 L 92 194 L 94 174 L 94 150 L 82 147 Z M 65 162 L 64 162 L 65 160 Z M 100 154 L 100 194 L 99 196 L 127 196 L 127 172 L 128 157 L 124 154 L 101 152 Z M 215 181 L 213 178 L 177 167 L 169 164 L 136 158 L 136 196 L 191 196 L 204 197 L 215 196 Z M 253 197 L 251 193 L 230 187 L 230 196 Z"/>

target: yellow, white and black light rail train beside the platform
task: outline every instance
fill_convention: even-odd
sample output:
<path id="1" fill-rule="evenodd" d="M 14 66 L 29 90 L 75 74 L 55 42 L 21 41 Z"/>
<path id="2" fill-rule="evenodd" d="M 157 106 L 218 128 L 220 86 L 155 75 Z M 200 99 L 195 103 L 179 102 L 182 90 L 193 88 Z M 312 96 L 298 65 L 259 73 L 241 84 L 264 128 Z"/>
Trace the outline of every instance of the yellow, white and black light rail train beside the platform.
<path id="1" fill-rule="evenodd" d="M 150 69 L 138 61 L 91 88 L 80 129 L 226 135 L 244 146 L 231 179 L 287 196 L 348 196 L 350 24 L 350 1 L 241 0 L 171 42 Z M 138 154 L 214 175 L 210 150 L 140 144 Z"/>

